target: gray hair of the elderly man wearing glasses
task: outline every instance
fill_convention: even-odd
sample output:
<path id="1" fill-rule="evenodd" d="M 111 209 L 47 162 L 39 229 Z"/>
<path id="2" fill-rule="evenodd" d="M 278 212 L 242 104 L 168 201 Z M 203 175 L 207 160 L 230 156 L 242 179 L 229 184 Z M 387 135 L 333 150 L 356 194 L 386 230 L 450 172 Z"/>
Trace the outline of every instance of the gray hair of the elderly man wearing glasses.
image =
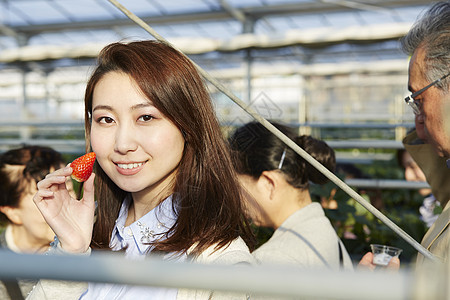
<path id="1" fill-rule="evenodd" d="M 426 79 L 432 82 L 450 72 L 450 1 L 433 4 L 401 39 L 402 50 L 412 55 L 418 48 L 425 50 Z M 448 77 L 449 78 L 449 77 Z M 449 80 L 436 86 L 443 92 Z"/>

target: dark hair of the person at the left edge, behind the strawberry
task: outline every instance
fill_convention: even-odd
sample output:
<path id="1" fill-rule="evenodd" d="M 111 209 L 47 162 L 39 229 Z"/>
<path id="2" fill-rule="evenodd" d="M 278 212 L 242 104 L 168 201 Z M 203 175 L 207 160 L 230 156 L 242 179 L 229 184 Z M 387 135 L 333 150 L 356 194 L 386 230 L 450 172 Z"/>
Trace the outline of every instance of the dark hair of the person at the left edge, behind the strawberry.
<path id="1" fill-rule="evenodd" d="M 0 155 L 0 206 L 18 207 L 30 184 L 64 165 L 61 154 L 49 147 L 24 146 Z M 0 213 L 0 222 L 7 221 Z"/>

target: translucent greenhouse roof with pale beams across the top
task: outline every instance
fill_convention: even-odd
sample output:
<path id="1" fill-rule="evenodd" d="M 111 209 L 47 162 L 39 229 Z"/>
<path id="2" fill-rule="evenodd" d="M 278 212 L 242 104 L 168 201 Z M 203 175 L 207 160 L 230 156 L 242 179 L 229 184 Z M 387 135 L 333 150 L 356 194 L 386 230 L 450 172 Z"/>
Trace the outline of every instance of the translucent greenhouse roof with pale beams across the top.
<path id="1" fill-rule="evenodd" d="M 113 1 L 111 1 L 113 2 Z M 95 57 L 105 44 L 152 38 L 108 0 L 0 1 L 0 63 Z M 261 59 L 399 56 L 427 0 L 119 0 L 187 54 L 267 50 Z M 286 50 L 285 47 L 294 46 Z M 255 52 L 258 57 L 258 52 Z M 331 54 L 331 55 L 330 55 Z M 233 57 L 227 59 L 233 62 Z M 373 56 L 370 59 L 374 59 Z M 320 58 L 318 59 L 319 61 Z M 220 64 L 220 62 L 215 62 Z"/>

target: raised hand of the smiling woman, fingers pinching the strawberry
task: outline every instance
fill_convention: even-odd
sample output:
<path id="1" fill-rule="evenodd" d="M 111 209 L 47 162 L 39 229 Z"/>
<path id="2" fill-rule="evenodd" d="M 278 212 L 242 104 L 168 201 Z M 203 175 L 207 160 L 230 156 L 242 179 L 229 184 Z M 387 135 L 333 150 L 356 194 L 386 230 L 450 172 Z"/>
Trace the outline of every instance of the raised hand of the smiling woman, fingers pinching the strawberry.
<path id="1" fill-rule="evenodd" d="M 84 253 L 88 250 L 94 226 L 94 173 L 84 182 L 83 198 L 72 198 L 66 179 L 72 168 L 56 170 L 37 184 L 33 197 L 42 216 L 58 237 L 64 251 Z"/>

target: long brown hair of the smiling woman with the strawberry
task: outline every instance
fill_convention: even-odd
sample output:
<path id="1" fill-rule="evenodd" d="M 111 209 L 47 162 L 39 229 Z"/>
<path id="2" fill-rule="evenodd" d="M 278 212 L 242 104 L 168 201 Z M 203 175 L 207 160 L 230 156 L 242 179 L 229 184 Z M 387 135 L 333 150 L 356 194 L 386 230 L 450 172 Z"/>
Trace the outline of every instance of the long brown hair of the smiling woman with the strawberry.
<path id="1" fill-rule="evenodd" d="M 180 52 L 156 41 L 113 43 L 98 58 L 85 94 L 85 125 L 88 148 L 92 96 L 106 73 L 129 75 L 153 105 L 183 133 L 185 148 L 173 189 L 178 218 L 166 239 L 154 244 L 156 251 L 187 251 L 193 255 L 207 247 L 228 245 L 241 236 L 251 248 L 241 192 L 211 99 L 195 66 Z M 98 164 L 96 172 L 97 221 L 92 246 L 108 249 L 112 229 L 127 192 L 121 190 Z"/>

